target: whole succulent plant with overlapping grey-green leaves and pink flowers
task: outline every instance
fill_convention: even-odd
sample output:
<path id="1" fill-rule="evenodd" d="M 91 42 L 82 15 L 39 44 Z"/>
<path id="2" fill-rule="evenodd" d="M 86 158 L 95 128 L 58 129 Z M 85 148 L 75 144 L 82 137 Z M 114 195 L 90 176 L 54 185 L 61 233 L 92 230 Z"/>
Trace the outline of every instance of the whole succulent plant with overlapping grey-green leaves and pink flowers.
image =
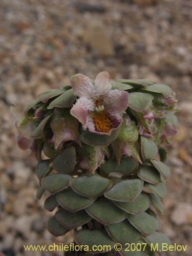
<path id="1" fill-rule="evenodd" d="M 159 231 L 170 176 L 161 144 L 177 132 L 176 102 L 165 84 L 101 72 L 76 74 L 26 106 L 17 140 L 36 154 L 36 197 L 48 195 L 54 236 L 74 229 L 78 245 L 120 243 L 119 254 L 132 256 L 156 252 L 125 251 L 126 243 L 158 243 L 161 254 L 170 244 Z"/>

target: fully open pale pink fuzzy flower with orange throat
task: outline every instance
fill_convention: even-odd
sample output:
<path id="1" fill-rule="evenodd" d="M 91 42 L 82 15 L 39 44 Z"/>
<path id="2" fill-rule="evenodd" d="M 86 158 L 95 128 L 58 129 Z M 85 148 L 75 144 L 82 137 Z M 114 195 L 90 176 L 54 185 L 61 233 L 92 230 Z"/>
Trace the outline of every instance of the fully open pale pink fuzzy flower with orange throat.
<path id="1" fill-rule="evenodd" d="M 108 134 L 119 127 L 128 105 L 126 91 L 111 90 L 108 72 L 99 73 L 92 83 L 82 74 L 71 77 L 71 85 L 79 97 L 71 115 L 82 123 L 83 129 L 97 134 Z"/>

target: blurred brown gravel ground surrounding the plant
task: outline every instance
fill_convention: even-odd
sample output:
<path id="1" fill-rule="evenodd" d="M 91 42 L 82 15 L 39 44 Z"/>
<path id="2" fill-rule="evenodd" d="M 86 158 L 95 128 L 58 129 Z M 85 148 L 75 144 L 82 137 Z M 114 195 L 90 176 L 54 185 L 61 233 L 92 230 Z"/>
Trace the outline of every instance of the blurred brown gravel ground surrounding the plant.
<path id="1" fill-rule="evenodd" d="M 0 251 L 6 256 L 63 255 L 25 252 L 24 244 L 69 243 L 54 238 L 50 216 L 36 200 L 36 160 L 19 150 L 10 106 L 19 113 L 39 93 L 68 83 L 75 73 L 94 78 L 148 78 L 176 91 L 179 133 L 167 145 L 163 231 L 191 255 L 192 2 L 189 0 L 0 1 Z"/>

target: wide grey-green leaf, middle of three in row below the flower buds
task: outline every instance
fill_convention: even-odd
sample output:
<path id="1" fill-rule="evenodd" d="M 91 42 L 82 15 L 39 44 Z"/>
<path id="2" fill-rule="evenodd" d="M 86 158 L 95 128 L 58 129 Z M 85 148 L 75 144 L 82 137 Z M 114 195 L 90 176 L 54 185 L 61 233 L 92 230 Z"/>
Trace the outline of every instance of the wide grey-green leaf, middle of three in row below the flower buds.
<path id="1" fill-rule="evenodd" d="M 109 179 L 99 175 L 83 175 L 70 181 L 70 186 L 76 193 L 88 198 L 101 196 L 110 185 Z"/>

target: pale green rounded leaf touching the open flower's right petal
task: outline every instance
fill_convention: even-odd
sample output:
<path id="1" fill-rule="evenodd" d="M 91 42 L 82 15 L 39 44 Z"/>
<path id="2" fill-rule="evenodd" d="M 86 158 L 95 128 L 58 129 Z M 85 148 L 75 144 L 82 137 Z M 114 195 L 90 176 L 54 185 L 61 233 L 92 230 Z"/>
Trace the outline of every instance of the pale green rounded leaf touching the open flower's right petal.
<path id="1" fill-rule="evenodd" d="M 148 93 L 133 92 L 129 93 L 129 107 L 135 111 L 144 111 L 153 100 L 154 96 Z"/>

